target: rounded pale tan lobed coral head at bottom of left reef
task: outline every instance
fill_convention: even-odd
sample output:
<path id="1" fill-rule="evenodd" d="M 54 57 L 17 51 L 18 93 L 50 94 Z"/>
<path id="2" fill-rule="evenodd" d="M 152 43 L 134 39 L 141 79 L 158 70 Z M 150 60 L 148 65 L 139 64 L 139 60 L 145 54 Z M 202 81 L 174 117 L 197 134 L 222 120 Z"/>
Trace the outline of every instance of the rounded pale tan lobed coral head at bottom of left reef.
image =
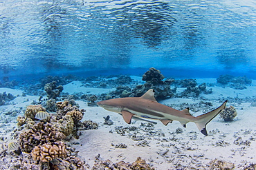
<path id="1" fill-rule="evenodd" d="M 66 150 L 64 142 L 57 141 L 36 146 L 33 151 L 31 151 L 31 156 L 33 160 L 50 162 L 55 158 L 66 158 L 67 153 L 68 151 Z"/>

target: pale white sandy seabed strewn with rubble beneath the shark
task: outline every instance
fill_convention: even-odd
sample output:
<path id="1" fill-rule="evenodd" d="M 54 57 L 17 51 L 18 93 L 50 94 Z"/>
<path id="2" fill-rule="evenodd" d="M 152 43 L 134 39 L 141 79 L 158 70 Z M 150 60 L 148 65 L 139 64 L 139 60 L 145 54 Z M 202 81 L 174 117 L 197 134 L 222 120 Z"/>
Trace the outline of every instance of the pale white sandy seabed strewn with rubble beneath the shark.
<path id="1" fill-rule="evenodd" d="M 211 83 L 213 79 L 196 79 L 196 81 Z M 253 81 L 247 89 L 210 87 L 212 94 L 201 94 L 199 98 L 169 98 L 159 102 L 165 105 L 180 105 L 180 109 L 185 109 L 183 103 L 196 105 L 202 101 L 210 101 L 212 109 L 215 109 L 224 102 L 223 98 L 237 98 L 237 101 L 232 100 L 226 105 L 227 107 L 232 105 L 237 109 L 237 117 L 232 122 L 225 122 L 217 116 L 206 127 L 208 136 L 203 136 L 194 123 L 188 123 L 184 128 L 177 121 L 165 126 L 160 121 L 154 125 L 133 120 L 131 125 L 128 125 L 119 114 L 101 107 L 89 107 L 86 102 L 76 100 L 80 109 L 86 110 L 83 120 L 93 120 L 100 127 L 81 131 L 80 138 L 73 141 L 77 144 L 73 147 L 79 151 L 79 156 L 86 159 L 90 167 L 95 164 L 95 156 L 100 154 L 103 160 L 109 159 L 112 162 L 120 160 L 134 162 L 139 156 L 156 169 L 175 169 L 174 167 L 179 167 L 179 164 L 183 167 L 203 169 L 204 164 L 209 164 L 214 159 L 231 162 L 235 164 L 235 169 L 243 169 L 241 165 L 246 162 L 256 163 L 256 107 L 251 106 L 251 102 L 244 103 L 239 99 L 255 98 L 255 82 Z M 113 89 L 86 89 L 79 82 L 64 85 L 64 92 L 70 94 L 84 90 L 89 94 L 100 94 Z M 0 88 L 0 92 L 11 93 L 14 96 L 22 94 L 22 91 L 7 88 Z M 26 107 L 31 101 L 38 100 L 38 97 L 19 96 L 10 102 L 12 105 L 3 105 L 0 109 L 3 111 Z M 194 116 L 204 113 L 203 110 L 190 112 Z M 106 116 L 110 116 L 113 125 L 103 125 L 103 117 Z M 2 114 L 1 119 L 4 119 Z M 10 138 L 12 130 L 17 127 L 15 121 L 16 117 L 11 123 L 1 123 L 1 137 Z"/>

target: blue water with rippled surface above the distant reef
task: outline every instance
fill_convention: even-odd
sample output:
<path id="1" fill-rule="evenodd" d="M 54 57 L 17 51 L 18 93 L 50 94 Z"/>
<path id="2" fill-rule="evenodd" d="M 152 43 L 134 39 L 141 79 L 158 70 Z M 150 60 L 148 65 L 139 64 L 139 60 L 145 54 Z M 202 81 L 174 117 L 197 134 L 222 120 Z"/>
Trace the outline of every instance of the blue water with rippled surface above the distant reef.
<path id="1" fill-rule="evenodd" d="M 256 78 L 256 1 L 0 1 L 0 78 Z"/>

